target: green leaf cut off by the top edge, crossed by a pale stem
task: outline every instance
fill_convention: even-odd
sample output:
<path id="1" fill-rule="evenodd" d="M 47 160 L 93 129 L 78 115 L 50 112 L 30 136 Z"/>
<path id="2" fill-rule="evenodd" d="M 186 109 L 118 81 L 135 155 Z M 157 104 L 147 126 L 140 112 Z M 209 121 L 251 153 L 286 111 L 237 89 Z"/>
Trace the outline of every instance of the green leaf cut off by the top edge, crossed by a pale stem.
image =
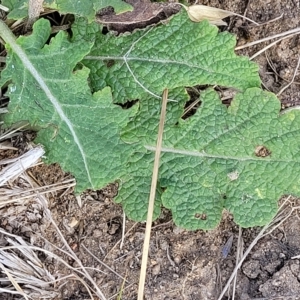
<path id="1" fill-rule="evenodd" d="M 2 4 L 10 9 L 8 18 L 19 20 L 28 16 L 29 0 L 2 0 Z M 115 12 L 122 13 L 131 11 L 132 6 L 122 0 L 92 0 L 92 1 L 74 1 L 74 0 L 46 0 L 44 7 L 59 10 L 63 14 L 75 14 L 83 16 L 92 21 L 98 10 L 112 6 Z"/>

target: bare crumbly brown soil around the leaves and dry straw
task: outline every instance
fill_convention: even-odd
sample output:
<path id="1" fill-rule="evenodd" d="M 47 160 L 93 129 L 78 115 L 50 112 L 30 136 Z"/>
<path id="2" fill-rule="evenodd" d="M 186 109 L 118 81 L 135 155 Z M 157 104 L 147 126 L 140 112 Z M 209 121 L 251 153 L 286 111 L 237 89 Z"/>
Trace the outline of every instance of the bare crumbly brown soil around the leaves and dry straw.
<path id="1" fill-rule="evenodd" d="M 224 30 L 237 35 L 238 45 L 300 25 L 298 0 L 209 0 L 202 1 L 201 4 L 239 14 L 246 11 L 247 17 L 258 23 L 265 23 L 283 14 L 281 19 L 261 26 L 249 25 L 241 18 L 229 18 L 229 27 Z M 238 53 L 252 56 L 267 44 L 246 48 Z M 277 93 L 291 80 L 299 50 L 299 36 L 295 35 L 273 46 L 267 51 L 267 55 L 264 53 L 255 59 L 260 66 L 260 75 L 267 89 Z M 279 96 L 283 108 L 300 104 L 300 75 L 296 76 L 295 81 Z M 4 151 L 1 154 L 2 157 L 8 155 Z M 51 184 L 67 176 L 57 165 L 35 167 L 31 170 L 31 175 L 41 184 Z M 83 265 L 96 268 L 90 271 L 90 275 L 96 280 L 107 299 L 117 299 L 123 283 L 120 277 L 125 277 L 122 299 L 135 300 L 145 224 L 136 224 L 126 219 L 126 236 L 120 249 L 124 223 L 121 206 L 112 200 L 116 193 L 117 187 L 113 184 L 100 191 L 87 191 L 82 195 L 83 204 L 79 208 L 72 191 L 64 192 L 63 195 L 62 192 L 57 192 L 49 196 L 48 206 L 53 219 Z M 293 199 L 292 202 L 293 205 L 298 205 L 299 201 Z M 50 243 L 57 247 L 63 247 L 63 243 L 53 226 L 43 218 L 45 214 L 42 206 L 32 200 L 20 207 L 15 216 L 9 213 L 10 207 L 1 210 L 0 228 L 22 236 L 29 243 L 59 253 Z M 77 225 L 70 226 L 74 221 Z M 224 212 L 222 222 L 215 230 L 190 232 L 177 228 L 172 222 L 170 213 L 164 210 L 153 226 L 145 299 L 217 299 L 236 261 L 239 229 L 232 216 Z M 291 259 L 300 253 L 299 228 L 300 219 L 295 212 L 271 235 L 258 242 L 238 273 L 235 299 L 300 299 L 300 262 L 299 259 Z M 259 230 L 259 228 L 243 229 L 244 249 L 250 245 Z M 233 236 L 232 248 L 228 256 L 222 258 L 222 247 L 231 236 Z M 7 245 L 2 236 L 0 245 Z M 101 265 L 86 248 L 120 277 Z M 59 261 L 46 258 L 42 253 L 39 253 L 39 258 L 52 274 L 60 274 L 59 276 L 69 274 Z M 64 259 L 76 266 L 72 259 L 67 257 Z M 4 283 L 0 284 L 0 287 L 3 286 Z M 57 286 L 53 285 L 51 288 L 56 290 Z M 223 299 L 231 297 L 231 292 L 228 292 Z M 0 298 L 20 299 L 4 293 Z M 52 299 L 90 298 L 78 280 L 68 280 Z"/>

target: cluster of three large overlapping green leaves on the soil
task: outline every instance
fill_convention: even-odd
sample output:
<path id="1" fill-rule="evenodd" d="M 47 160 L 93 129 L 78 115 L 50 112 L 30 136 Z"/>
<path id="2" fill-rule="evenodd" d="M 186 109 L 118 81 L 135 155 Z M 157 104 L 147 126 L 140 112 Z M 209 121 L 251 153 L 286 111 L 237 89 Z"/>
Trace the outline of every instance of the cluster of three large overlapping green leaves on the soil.
<path id="1" fill-rule="evenodd" d="M 60 32 L 47 45 L 49 36 L 49 23 L 39 20 L 31 36 L 18 38 L 20 48 L 8 45 L 4 121 L 39 128 L 47 162 L 71 172 L 77 192 L 118 181 L 116 201 L 130 218 L 145 220 L 167 87 L 176 101 L 167 108 L 155 218 L 163 205 L 179 226 L 209 229 L 227 208 L 244 227 L 263 225 L 282 194 L 300 195 L 299 112 L 279 115 L 278 99 L 259 89 L 257 66 L 234 54 L 228 33 L 183 13 L 119 37 L 83 19 L 71 40 Z M 226 108 L 208 88 L 196 114 L 183 120 L 185 86 L 195 84 L 233 87 L 237 95 Z M 129 100 L 138 103 L 116 105 Z"/>

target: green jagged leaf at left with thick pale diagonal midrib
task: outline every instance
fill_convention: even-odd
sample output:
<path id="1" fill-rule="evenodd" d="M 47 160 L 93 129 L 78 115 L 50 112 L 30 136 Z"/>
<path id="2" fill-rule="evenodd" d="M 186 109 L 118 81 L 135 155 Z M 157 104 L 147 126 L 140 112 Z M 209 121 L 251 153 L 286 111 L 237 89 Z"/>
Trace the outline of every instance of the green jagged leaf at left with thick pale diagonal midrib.
<path id="1" fill-rule="evenodd" d="M 133 150 L 120 140 L 119 132 L 135 108 L 116 107 L 109 88 L 92 95 L 87 83 L 89 70 L 73 71 L 91 43 L 70 42 L 60 32 L 45 45 L 49 36 L 50 24 L 41 19 L 31 36 L 17 40 L 24 51 L 22 61 L 9 50 L 0 80 L 0 85 L 12 81 L 10 113 L 4 121 L 9 125 L 29 120 L 32 127 L 40 129 L 36 142 L 45 146 L 47 162 L 59 162 L 74 174 L 77 192 L 99 189 L 125 172 L 123 162 Z"/>

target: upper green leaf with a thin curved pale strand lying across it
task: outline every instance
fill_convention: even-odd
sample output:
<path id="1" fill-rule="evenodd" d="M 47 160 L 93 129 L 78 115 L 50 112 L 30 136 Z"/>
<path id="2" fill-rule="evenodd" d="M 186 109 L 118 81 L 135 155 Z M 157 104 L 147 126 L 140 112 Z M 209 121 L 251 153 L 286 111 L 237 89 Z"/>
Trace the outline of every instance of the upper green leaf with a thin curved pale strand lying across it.
<path id="1" fill-rule="evenodd" d="M 146 31 L 118 37 L 98 32 L 84 64 L 91 69 L 93 89 L 110 86 L 116 102 L 145 92 L 159 98 L 166 87 L 259 87 L 258 66 L 236 56 L 235 44 L 233 35 L 218 33 L 206 21 L 193 23 L 183 12 Z"/>

